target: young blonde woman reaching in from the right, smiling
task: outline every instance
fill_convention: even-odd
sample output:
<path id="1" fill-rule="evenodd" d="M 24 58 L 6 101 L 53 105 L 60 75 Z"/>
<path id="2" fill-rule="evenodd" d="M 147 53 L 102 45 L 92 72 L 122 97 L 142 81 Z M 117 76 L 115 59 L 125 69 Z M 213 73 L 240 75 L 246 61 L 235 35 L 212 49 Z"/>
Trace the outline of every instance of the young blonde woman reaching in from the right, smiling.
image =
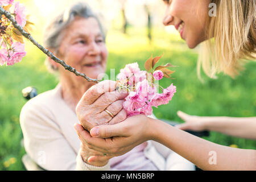
<path id="1" fill-rule="evenodd" d="M 245 59 L 255 60 L 255 1 L 173 0 L 164 2 L 167 5 L 164 25 L 175 26 L 189 48 L 195 48 L 201 43 L 199 74 L 200 68 L 203 67 L 209 77 L 214 77 L 220 72 L 234 77 L 243 68 Z M 210 3 L 216 7 L 217 16 L 210 16 Z M 94 85 L 91 89 L 96 88 L 97 85 Z M 82 105 L 84 100 L 86 97 L 82 98 L 79 105 Z M 77 115 L 82 115 L 82 111 L 77 112 Z M 240 130 L 240 137 L 256 139 L 256 117 L 238 120 L 232 118 L 228 122 L 224 118 L 218 124 L 226 126 L 226 129 Z M 76 124 L 75 128 L 90 150 L 102 154 L 90 156 L 89 162 L 108 163 L 113 156 L 124 154 L 146 140 L 155 140 L 201 169 L 256 170 L 255 150 L 221 146 L 145 115 L 135 115 L 115 125 L 93 127 L 90 134 L 79 124 Z"/>

